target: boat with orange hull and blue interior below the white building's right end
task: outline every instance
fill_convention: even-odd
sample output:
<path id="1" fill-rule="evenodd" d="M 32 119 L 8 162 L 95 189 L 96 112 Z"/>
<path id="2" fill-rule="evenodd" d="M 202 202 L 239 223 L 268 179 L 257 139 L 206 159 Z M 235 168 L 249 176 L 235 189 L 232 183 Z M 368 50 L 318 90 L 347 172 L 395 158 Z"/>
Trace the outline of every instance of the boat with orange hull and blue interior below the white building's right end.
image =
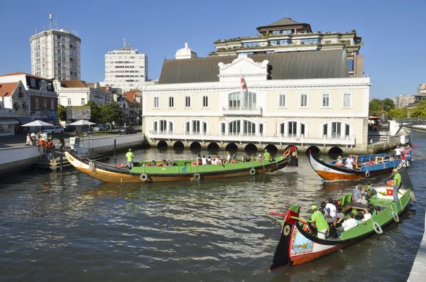
<path id="1" fill-rule="evenodd" d="M 401 163 L 401 158 L 392 158 L 391 156 L 387 156 L 386 153 L 363 156 L 351 155 L 348 158 L 353 159 L 354 168 L 346 168 L 345 166 L 338 166 L 337 161 L 325 163 L 310 153 L 310 165 L 324 180 L 356 180 L 390 173 L 393 168 L 400 165 L 410 166 L 411 153 L 407 152 L 404 156 L 405 161 Z M 373 163 L 369 164 L 368 162 L 371 160 Z M 342 160 L 342 163 L 345 163 L 345 161 L 346 158 Z"/>

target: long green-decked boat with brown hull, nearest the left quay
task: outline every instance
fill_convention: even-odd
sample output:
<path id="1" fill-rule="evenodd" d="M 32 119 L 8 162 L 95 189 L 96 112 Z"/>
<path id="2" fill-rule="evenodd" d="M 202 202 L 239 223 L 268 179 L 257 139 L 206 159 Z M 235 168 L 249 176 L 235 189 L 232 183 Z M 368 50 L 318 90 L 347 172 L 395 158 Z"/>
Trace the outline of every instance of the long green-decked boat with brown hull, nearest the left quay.
<path id="1" fill-rule="evenodd" d="M 151 162 L 141 162 L 133 163 L 134 167 L 129 170 L 126 167 L 111 166 L 107 163 L 72 156 L 68 152 L 65 152 L 65 157 L 77 170 L 107 183 L 170 182 L 256 175 L 285 168 L 290 161 L 289 157 L 278 156 L 272 161 L 202 166 L 194 166 L 194 161 L 175 161 L 174 166 L 147 166 Z"/>

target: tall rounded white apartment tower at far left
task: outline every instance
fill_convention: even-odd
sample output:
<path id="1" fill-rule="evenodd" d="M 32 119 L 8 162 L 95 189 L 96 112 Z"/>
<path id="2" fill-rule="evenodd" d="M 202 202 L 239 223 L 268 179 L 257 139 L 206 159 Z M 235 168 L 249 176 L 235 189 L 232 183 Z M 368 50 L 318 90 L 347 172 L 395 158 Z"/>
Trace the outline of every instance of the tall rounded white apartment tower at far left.
<path id="1" fill-rule="evenodd" d="M 80 80 L 82 40 L 66 28 L 42 31 L 30 38 L 31 73 L 51 80 Z"/>

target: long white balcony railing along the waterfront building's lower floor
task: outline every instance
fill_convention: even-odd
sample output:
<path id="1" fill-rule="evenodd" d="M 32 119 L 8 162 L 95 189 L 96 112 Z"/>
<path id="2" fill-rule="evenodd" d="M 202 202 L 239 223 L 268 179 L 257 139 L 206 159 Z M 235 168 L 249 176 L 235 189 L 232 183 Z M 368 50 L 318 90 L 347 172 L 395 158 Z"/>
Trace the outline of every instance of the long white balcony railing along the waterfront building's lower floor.
<path id="1" fill-rule="evenodd" d="M 334 138 L 330 136 L 323 137 L 306 137 L 303 134 L 288 136 L 287 134 L 266 135 L 259 133 L 231 133 L 231 134 L 210 134 L 207 132 L 182 132 L 173 131 L 149 131 L 148 139 L 173 139 L 180 141 L 216 141 L 216 142 L 242 142 L 242 143 L 310 143 L 310 144 L 327 144 L 354 146 L 356 143 L 355 136 L 346 136 L 342 138 Z"/>

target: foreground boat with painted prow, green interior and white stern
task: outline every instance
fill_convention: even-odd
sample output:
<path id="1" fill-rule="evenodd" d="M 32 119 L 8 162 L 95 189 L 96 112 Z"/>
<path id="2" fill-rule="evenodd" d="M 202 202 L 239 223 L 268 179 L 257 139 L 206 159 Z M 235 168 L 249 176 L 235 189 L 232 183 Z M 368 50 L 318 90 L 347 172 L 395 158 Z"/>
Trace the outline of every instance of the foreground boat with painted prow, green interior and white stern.
<path id="1" fill-rule="evenodd" d="M 398 191 L 398 201 L 393 202 L 393 188 L 390 185 L 376 185 L 373 188 L 378 192 L 377 196 L 371 197 L 370 203 L 381 207 L 381 212 L 366 221 L 366 224 L 359 224 L 349 230 L 337 230 L 339 236 L 332 236 L 329 239 L 318 239 L 306 232 L 301 222 L 300 206 L 293 205 L 285 215 L 283 227 L 281 229 L 280 241 L 275 250 L 273 261 L 269 272 L 278 271 L 287 266 L 305 264 L 314 261 L 322 256 L 330 254 L 345 246 L 354 244 L 372 234 L 382 234 L 383 227 L 393 221 L 399 222 L 399 215 L 408 207 L 410 200 L 415 201 L 413 185 L 407 173 L 407 168 L 400 170 L 401 188 Z M 345 217 L 352 210 L 364 210 L 367 205 L 352 202 L 352 193 L 342 197 L 340 207 Z M 271 212 L 273 214 L 273 212 Z M 278 214 L 280 215 L 280 214 Z M 306 220 L 306 219 L 305 219 Z M 309 220 L 308 220 L 309 221 Z M 339 227 L 340 229 L 341 227 Z M 342 233 L 340 233 L 342 232 Z"/>

